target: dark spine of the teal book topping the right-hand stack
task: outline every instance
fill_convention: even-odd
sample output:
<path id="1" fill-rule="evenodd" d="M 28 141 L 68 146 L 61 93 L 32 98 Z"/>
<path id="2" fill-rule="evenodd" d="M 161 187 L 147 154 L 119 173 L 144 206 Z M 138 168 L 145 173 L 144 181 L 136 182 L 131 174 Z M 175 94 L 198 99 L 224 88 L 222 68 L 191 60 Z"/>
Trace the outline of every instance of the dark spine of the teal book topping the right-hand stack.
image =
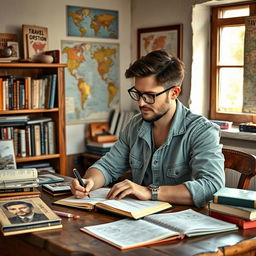
<path id="1" fill-rule="evenodd" d="M 239 198 L 232 198 L 232 197 L 222 197 L 222 196 L 214 196 L 213 202 L 216 204 L 228 204 L 234 206 L 242 206 L 248 208 L 256 208 L 256 202 L 250 199 L 239 199 Z"/>

